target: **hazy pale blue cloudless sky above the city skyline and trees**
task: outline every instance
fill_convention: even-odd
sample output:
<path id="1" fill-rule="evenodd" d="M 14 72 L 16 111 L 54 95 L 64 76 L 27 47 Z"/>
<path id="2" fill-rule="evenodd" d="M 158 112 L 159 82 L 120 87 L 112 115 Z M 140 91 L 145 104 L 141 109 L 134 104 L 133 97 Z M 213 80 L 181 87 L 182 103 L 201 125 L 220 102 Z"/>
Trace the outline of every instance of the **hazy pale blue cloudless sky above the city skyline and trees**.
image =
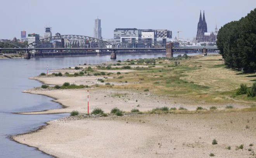
<path id="1" fill-rule="evenodd" d="M 94 19 L 101 19 L 103 38 L 113 38 L 115 28 L 169 29 L 173 38 L 196 36 L 200 10 L 205 11 L 208 32 L 239 20 L 256 7 L 256 0 L 1 0 L 0 39 L 21 38 L 21 31 L 43 36 L 93 37 Z"/>

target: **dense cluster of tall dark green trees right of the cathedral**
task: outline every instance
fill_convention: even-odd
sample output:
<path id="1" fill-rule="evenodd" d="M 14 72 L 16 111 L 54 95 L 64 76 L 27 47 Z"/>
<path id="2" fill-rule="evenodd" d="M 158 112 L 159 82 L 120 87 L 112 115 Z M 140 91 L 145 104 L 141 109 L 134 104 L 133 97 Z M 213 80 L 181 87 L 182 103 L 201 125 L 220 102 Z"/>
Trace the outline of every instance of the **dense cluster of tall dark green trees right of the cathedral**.
<path id="1" fill-rule="evenodd" d="M 217 46 L 229 68 L 256 71 L 256 8 L 239 21 L 221 27 Z"/>

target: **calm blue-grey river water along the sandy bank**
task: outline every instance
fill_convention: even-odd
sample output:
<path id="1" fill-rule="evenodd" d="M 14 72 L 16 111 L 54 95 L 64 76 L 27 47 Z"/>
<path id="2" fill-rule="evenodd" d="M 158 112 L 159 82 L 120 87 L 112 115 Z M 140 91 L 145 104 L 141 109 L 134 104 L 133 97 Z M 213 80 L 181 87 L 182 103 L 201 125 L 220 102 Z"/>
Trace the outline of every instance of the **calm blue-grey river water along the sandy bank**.
<path id="1" fill-rule="evenodd" d="M 189 54 L 194 55 L 194 54 Z M 119 55 L 118 60 L 157 58 L 165 54 Z M 175 54 L 177 56 L 177 54 Z M 79 64 L 98 64 L 111 61 L 110 56 L 81 56 L 62 58 L 0 59 L 0 157 L 1 158 L 52 158 L 36 148 L 11 141 L 9 136 L 29 132 L 42 126 L 44 122 L 69 114 L 21 115 L 13 112 L 39 111 L 61 108 L 52 98 L 22 93 L 40 87 L 42 84 L 29 77 L 56 68 L 67 68 Z"/>

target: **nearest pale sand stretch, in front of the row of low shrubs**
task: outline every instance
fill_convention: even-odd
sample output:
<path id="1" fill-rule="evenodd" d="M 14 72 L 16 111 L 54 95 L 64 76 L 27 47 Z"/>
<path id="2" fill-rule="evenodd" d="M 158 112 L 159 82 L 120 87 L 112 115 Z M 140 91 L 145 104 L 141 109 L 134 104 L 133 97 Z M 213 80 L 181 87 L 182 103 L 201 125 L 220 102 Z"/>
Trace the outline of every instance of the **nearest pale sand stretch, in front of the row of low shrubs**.
<path id="1" fill-rule="evenodd" d="M 162 114 L 49 122 L 14 139 L 59 158 L 249 158 L 256 149 L 255 112 Z M 246 125 L 249 128 L 246 128 Z M 213 145 L 216 139 L 218 144 Z M 253 143 L 254 146 L 249 146 Z M 244 149 L 235 150 L 244 144 Z M 226 149 L 231 146 L 231 150 Z"/>

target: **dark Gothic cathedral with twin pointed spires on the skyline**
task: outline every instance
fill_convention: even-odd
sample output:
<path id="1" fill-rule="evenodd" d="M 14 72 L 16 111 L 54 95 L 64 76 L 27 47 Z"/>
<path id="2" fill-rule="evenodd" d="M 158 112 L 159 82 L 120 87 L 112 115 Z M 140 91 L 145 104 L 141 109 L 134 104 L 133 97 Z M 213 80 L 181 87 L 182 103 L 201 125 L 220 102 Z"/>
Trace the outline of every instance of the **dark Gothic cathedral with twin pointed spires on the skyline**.
<path id="1" fill-rule="evenodd" d="M 200 11 L 199 22 L 197 24 L 197 34 L 196 34 L 196 42 L 216 42 L 217 40 L 217 26 L 215 28 L 215 32 L 207 31 L 207 24 L 205 20 L 205 15 Z"/>

